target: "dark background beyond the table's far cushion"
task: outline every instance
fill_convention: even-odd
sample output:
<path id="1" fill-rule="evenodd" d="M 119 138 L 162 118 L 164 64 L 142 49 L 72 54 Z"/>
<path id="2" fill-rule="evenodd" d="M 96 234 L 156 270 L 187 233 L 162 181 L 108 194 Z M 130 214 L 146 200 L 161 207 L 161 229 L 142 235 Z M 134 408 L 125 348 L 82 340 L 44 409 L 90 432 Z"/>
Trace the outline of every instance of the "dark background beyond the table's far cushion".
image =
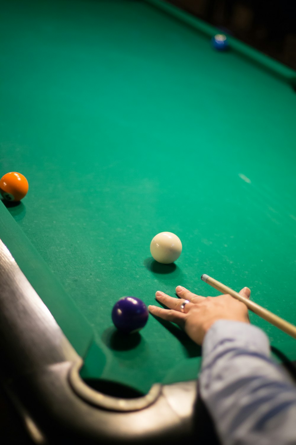
<path id="1" fill-rule="evenodd" d="M 167 1 L 296 69 L 295 0 Z"/>

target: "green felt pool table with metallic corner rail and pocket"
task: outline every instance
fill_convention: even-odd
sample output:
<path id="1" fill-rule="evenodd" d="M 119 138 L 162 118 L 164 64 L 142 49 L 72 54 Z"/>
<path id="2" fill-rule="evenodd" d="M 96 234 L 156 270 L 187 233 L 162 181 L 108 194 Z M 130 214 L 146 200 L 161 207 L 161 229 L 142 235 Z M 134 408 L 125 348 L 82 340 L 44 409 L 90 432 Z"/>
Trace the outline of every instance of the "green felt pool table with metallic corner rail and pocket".
<path id="1" fill-rule="evenodd" d="M 38 443 L 189 440 L 201 348 L 153 316 L 122 335 L 111 310 L 216 296 L 206 273 L 295 324 L 296 73 L 158 0 L 1 3 L 0 176 L 29 182 L 0 202 L 2 383 Z M 162 231 L 174 264 L 150 255 Z"/>

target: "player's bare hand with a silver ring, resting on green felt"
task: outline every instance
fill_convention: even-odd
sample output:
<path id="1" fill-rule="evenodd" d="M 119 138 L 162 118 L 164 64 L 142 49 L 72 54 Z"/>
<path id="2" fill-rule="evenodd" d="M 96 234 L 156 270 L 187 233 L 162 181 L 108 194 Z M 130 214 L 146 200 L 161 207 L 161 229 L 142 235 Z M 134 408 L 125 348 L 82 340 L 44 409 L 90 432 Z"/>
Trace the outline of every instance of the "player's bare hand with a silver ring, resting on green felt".
<path id="1" fill-rule="evenodd" d="M 151 305 L 148 309 L 152 315 L 181 326 L 197 344 L 202 344 L 205 334 L 217 320 L 249 323 L 248 308 L 231 295 L 202 297 L 193 294 L 182 286 L 176 287 L 176 293 L 180 298 L 170 297 L 161 291 L 157 291 L 156 298 L 169 309 Z M 240 294 L 250 298 L 251 291 L 248 287 L 244 287 Z M 181 305 L 186 300 L 189 303 L 185 304 L 184 312 L 181 312 Z"/>

